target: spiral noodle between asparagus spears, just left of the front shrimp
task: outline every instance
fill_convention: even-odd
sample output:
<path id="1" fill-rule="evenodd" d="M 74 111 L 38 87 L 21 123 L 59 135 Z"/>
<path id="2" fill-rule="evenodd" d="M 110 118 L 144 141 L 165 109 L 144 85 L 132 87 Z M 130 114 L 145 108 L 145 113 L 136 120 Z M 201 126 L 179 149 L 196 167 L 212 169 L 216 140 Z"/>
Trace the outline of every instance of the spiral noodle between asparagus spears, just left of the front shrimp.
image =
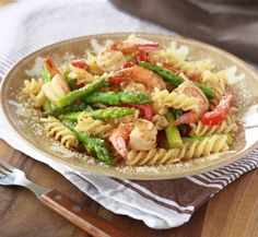
<path id="1" fill-rule="evenodd" d="M 102 120 L 79 116 L 75 129 L 86 132 L 89 135 L 95 135 L 105 139 L 110 135 L 114 127 L 109 123 L 103 122 Z"/>

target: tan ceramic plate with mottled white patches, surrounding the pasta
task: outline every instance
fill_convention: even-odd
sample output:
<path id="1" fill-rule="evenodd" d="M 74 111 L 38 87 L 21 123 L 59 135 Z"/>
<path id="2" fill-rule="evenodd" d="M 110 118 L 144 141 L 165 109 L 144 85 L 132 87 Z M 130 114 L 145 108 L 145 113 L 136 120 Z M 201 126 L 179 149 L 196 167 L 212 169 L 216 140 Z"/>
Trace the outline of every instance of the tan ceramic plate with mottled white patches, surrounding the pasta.
<path id="1" fill-rule="evenodd" d="M 166 46 L 171 42 L 176 42 L 178 45 L 186 45 L 190 49 L 189 56 L 192 59 L 211 59 L 216 69 L 225 69 L 232 66 L 237 68 L 237 74 L 230 81 L 236 91 L 236 97 L 239 102 L 239 115 L 243 118 L 243 131 L 238 134 L 237 141 L 232 147 L 234 151 L 222 155 L 211 155 L 203 158 L 197 158 L 178 164 L 167 164 L 163 166 L 152 167 L 108 167 L 102 164 L 87 162 L 83 157 L 73 157 L 72 154 L 62 150 L 52 149 L 52 143 L 45 135 L 36 135 L 33 128 L 24 126 L 21 117 L 16 112 L 15 95 L 23 85 L 25 79 L 30 79 L 27 73 L 33 73 L 33 68 L 39 63 L 40 58 L 50 56 L 54 60 L 61 60 L 64 56 L 74 55 L 83 57 L 86 50 L 99 48 L 107 40 L 125 39 L 131 33 L 101 34 L 91 35 L 73 39 L 63 40 L 50 46 L 44 47 L 20 60 L 5 74 L 1 82 L 1 114 L 4 118 L 5 126 L 11 129 L 13 137 L 20 143 L 26 144 L 36 153 L 44 155 L 47 158 L 54 159 L 60 164 L 70 167 L 87 170 L 94 174 L 128 178 L 128 179 L 171 179 L 191 175 L 197 175 L 211 170 L 218 167 L 225 166 L 234 161 L 243 157 L 255 147 L 258 147 L 258 78 L 257 74 L 241 59 L 235 56 L 215 48 L 213 46 L 181 37 L 155 35 L 141 33 L 137 36 L 152 39 Z"/>

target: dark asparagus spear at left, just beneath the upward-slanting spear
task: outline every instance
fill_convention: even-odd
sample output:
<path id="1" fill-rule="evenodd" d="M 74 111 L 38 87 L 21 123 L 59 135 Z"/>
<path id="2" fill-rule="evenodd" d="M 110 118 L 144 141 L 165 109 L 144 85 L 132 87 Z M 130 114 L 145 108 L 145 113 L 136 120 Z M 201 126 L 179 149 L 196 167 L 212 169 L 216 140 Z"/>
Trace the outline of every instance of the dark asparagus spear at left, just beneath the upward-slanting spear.
<path id="1" fill-rule="evenodd" d="M 50 116 L 60 116 L 60 115 L 66 115 L 73 111 L 82 111 L 86 108 L 89 108 L 89 106 L 85 105 L 84 103 L 81 103 L 81 104 L 69 105 L 63 108 L 51 107 L 51 108 L 48 108 L 44 114 L 50 115 Z"/>

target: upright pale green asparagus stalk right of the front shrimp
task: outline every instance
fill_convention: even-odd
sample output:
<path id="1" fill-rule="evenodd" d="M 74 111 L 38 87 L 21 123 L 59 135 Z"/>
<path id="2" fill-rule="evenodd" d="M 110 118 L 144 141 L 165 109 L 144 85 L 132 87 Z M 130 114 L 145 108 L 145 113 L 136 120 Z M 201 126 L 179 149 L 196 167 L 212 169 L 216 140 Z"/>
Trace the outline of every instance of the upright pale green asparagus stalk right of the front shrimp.
<path id="1" fill-rule="evenodd" d="M 169 149 L 180 149 L 183 146 L 180 133 L 178 128 L 175 126 L 175 118 L 171 111 L 166 114 L 166 119 L 169 122 L 165 128 L 168 146 Z"/>

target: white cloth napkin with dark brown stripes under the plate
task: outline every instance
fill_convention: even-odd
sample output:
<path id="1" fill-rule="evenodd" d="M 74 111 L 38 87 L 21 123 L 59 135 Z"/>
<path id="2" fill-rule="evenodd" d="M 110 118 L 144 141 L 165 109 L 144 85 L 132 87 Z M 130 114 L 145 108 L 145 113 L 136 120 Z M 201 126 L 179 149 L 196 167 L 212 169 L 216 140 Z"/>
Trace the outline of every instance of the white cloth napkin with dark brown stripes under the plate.
<path id="1" fill-rule="evenodd" d="M 44 45 L 103 32 L 172 32 L 125 14 L 106 0 L 19 2 L 0 10 L 0 78 L 19 58 Z M 79 171 L 37 154 L 0 119 L 0 135 L 14 149 L 48 164 L 89 197 L 117 214 L 142 220 L 152 228 L 172 228 L 188 222 L 215 193 L 241 175 L 258 167 L 258 150 L 241 161 L 192 177 L 131 181 Z"/>

